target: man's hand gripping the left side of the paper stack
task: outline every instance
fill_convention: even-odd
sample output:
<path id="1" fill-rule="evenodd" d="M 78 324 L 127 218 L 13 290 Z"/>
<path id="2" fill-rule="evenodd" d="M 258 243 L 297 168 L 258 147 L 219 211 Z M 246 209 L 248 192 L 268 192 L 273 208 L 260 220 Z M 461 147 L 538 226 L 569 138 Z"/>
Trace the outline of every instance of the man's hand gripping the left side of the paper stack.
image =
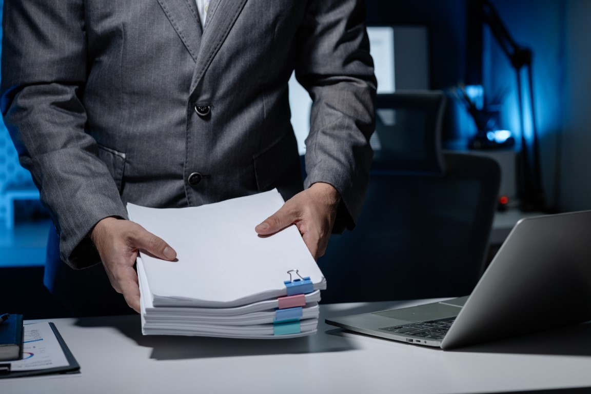
<path id="1" fill-rule="evenodd" d="M 139 313 L 138 275 L 134 269 L 139 249 L 168 261 L 176 259 L 177 252 L 139 224 L 115 217 L 96 223 L 90 238 L 99 251 L 111 285 Z"/>

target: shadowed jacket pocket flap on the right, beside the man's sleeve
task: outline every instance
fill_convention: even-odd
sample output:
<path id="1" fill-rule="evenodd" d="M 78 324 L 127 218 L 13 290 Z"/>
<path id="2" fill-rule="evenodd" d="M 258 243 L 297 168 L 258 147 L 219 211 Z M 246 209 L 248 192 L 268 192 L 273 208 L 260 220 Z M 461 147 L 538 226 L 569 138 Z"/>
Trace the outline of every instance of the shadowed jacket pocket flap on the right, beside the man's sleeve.
<path id="1" fill-rule="evenodd" d="M 297 141 L 290 132 L 254 157 L 256 187 L 261 191 L 276 187 L 278 180 L 294 165 L 299 165 Z"/>

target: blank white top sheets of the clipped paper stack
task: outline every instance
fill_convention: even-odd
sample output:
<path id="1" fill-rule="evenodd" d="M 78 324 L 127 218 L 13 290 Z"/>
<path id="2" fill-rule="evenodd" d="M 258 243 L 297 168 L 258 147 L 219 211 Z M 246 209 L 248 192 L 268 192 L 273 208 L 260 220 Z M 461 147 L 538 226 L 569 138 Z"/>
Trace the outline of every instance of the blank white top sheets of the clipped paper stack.
<path id="1" fill-rule="evenodd" d="M 280 297 L 291 269 L 310 276 L 314 289 L 326 288 L 295 226 L 269 237 L 256 234 L 254 227 L 282 204 L 277 190 L 180 209 L 128 204 L 131 220 L 177 252 L 175 262 L 141 253 L 154 305 L 158 299 L 177 299 L 194 307 L 227 308 Z"/>

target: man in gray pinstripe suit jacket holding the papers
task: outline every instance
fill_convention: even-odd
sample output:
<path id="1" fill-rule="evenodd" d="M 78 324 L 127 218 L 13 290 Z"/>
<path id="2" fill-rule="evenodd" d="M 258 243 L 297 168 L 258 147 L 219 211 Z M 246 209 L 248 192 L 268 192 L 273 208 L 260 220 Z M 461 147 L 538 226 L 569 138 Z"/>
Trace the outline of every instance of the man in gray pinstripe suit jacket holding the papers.
<path id="1" fill-rule="evenodd" d="M 364 19 L 362 0 L 5 0 L 0 105 L 56 226 L 48 288 L 76 315 L 116 313 L 110 282 L 139 310 L 138 249 L 176 252 L 127 220 L 127 202 L 277 187 L 289 199 L 256 232 L 296 224 L 321 256 L 355 225 L 372 157 Z M 314 102 L 304 185 L 294 69 Z"/>

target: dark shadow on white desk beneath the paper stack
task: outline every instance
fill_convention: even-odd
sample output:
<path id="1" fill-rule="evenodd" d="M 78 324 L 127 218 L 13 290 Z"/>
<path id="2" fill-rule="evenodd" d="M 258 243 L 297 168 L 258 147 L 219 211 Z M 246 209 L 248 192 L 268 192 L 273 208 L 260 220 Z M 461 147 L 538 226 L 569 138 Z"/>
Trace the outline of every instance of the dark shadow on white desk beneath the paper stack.
<path id="1" fill-rule="evenodd" d="M 324 321 L 322 319 L 321 321 Z M 139 346 L 152 348 L 151 359 L 183 360 L 213 357 L 265 356 L 271 354 L 326 353 L 355 350 L 348 338 L 317 335 L 289 339 L 236 339 L 190 336 L 144 336 L 139 315 L 86 317 L 76 322 L 79 327 L 112 327 Z"/>

